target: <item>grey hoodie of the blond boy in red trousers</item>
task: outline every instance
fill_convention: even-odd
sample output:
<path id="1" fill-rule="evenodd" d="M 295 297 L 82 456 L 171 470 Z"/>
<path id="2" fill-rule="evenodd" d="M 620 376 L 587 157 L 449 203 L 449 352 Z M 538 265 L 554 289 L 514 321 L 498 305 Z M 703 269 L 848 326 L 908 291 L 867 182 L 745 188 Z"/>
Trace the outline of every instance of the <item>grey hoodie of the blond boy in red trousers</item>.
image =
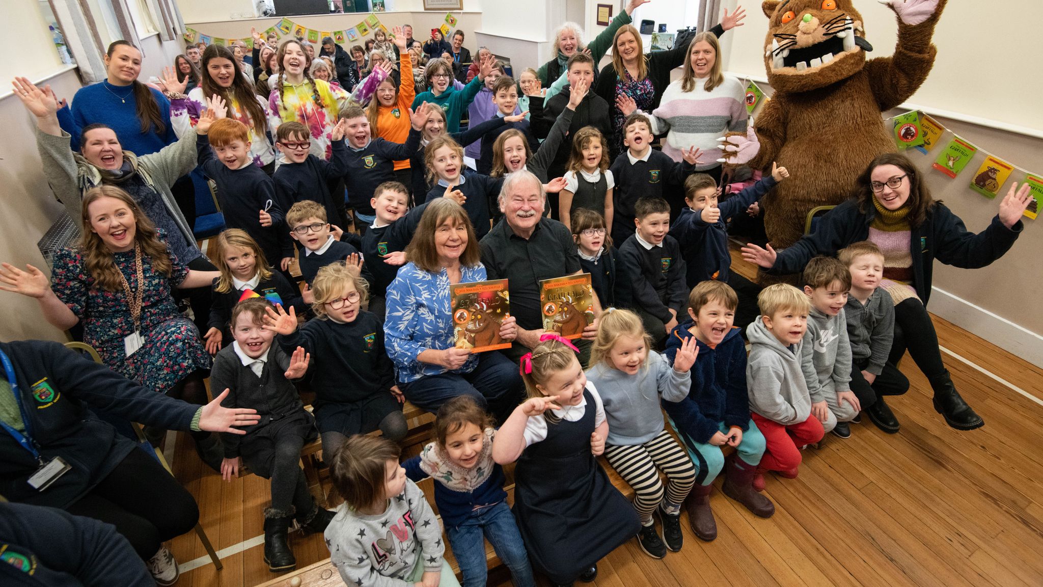
<path id="1" fill-rule="evenodd" d="M 799 424 L 811 415 L 811 398 L 801 370 L 804 342 L 793 350 L 765 327 L 760 316 L 746 330 L 750 356 L 746 360 L 746 389 L 750 410 L 784 426 Z"/>

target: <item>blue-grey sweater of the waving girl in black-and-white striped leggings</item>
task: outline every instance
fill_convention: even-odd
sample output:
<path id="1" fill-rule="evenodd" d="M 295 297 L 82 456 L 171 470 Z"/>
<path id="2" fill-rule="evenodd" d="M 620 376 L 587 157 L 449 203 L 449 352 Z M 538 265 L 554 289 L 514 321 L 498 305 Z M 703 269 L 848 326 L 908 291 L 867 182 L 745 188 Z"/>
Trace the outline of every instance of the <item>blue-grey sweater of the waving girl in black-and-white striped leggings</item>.
<path id="1" fill-rule="evenodd" d="M 606 443 L 615 446 L 645 444 L 662 431 L 659 397 L 681 401 L 688 396 L 692 373 L 678 373 L 659 353 L 650 350 L 636 375 L 628 375 L 604 362 L 586 372 L 601 395 L 608 420 Z"/>

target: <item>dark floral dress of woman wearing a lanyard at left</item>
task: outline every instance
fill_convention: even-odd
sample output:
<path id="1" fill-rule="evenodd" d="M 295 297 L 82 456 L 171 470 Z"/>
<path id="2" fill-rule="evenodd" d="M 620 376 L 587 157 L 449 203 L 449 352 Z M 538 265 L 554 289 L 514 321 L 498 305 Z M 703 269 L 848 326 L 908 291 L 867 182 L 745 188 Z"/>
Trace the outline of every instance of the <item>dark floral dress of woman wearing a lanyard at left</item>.
<path id="1" fill-rule="evenodd" d="M 131 291 L 138 290 L 135 253 L 114 253 Z M 142 256 L 145 291 L 141 303 L 141 334 L 144 344 L 129 357 L 123 338 L 134 332 L 134 319 L 126 295 L 120 288 L 107 291 L 95 286 L 87 262 L 77 249 L 62 249 L 54 254 L 51 288 L 83 325 L 83 342 L 94 347 L 113 371 L 145 388 L 167 393 L 175 383 L 197 369 L 210 369 L 210 355 L 199 342 L 192 321 L 177 311 L 171 288 L 185 280 L 189 269 L 172 254 L 171 272 L 166 277 L 152 268 L 151 259 Z"/>

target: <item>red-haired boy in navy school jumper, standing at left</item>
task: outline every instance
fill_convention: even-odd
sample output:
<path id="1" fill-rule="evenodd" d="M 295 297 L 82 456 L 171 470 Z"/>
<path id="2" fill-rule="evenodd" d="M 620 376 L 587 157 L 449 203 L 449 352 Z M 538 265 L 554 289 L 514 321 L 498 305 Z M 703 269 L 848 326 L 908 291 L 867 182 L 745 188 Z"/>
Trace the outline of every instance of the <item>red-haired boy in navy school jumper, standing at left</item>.
<path id="1" fill-rule="evenodd" d="M 253 164 L 249 128 L 238 120 L 220 118 L 220 111 L 215 104 L 207 110 L 219 119 L 196 139 L 199 166 L 217 184 L 225 228 L 246 231 L 265 259 L 282 264 L 283 259 L 293 258 L 283 216 L 290 206 L 275 193 L 271 178 Z"/>

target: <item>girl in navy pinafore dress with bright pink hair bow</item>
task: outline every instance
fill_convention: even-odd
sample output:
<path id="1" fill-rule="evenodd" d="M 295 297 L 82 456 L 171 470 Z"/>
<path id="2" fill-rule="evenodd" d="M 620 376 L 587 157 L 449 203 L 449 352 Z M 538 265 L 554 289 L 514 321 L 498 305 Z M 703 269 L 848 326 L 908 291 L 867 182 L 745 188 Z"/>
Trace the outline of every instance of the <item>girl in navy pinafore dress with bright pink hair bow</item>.
<path id="1" fill-rule="evenodd" d="M 533 567 L 556 585 L 593 581 L 598 561 L 630 540 L 637 512 L 598 463 L 608 420 L 576 347 L 547 333 L 522 357 L 530 399 L 492 443 L 500 465 L 514 468 L 514 518 Z"/>

